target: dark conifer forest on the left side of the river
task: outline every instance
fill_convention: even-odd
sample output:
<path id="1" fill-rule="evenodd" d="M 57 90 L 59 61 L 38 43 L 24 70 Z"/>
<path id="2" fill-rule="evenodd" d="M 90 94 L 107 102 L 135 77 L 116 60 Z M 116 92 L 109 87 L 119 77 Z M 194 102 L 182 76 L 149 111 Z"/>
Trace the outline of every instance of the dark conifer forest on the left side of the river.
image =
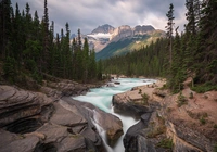
<path id="1" fill-rule="evenodd" d="M 61 35 L 54 36 L 54 22 L 48 16 L 44 0 L 43 17 L 37 11 L 30 14 L 30 7 L 13 10 L 10 0 L 0 1 L 0 80 L 12 84 L 25 83 L 33 78 L 40 83 L 44 75 L 75 79 L 87 83 L 101 78 L 101 67 L 97 66 L 94 51 L 78 38 L 69 42 L 69 25 Z"/>

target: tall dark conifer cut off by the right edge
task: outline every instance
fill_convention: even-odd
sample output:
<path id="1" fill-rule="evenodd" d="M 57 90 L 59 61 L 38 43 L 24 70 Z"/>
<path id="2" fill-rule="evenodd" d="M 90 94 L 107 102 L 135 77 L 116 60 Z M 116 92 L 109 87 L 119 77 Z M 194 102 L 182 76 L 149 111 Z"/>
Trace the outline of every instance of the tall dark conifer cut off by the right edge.
<path id="1" fill-rule="evenodd" d="M 203 3 L 202 18 L 200 21 L 199 43 L 195 62 L 199 65 L 199 83 L 209 81 L 217 85 L 217 1 L 209 0 Z"/>

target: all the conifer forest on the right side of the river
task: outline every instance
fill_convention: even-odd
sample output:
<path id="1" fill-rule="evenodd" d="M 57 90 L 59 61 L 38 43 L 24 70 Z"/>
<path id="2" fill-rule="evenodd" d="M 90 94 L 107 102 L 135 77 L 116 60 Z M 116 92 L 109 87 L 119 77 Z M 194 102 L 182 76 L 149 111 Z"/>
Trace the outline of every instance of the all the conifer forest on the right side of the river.
<path id="1" fill-rule="evenodd" d="M 217 1 L 187 0 L 184 33 L 176 27 L 174 5 L 166 16 L 167 38 L 141 48 L 137 52 L 103 61 L 104 73 L 128 76 L 163 76 L 174 91 L 182 88 L 187 77 L 199 92 L 217 89 Z"/>

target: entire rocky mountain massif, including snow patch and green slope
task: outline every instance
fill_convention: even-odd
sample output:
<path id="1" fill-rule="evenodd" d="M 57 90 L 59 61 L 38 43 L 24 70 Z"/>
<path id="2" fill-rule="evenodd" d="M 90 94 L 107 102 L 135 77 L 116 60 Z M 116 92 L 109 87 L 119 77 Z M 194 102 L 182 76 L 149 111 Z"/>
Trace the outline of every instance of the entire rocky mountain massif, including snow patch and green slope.
<path id="1" fill-rule="evenodd" d="M 98 26 L 88 35 L 81 35 L 82 42 L 85 37 L 88 38 L 89 48 L 94 49 L 97 60 L 139 50 L 164 36 L 163 30 L 157 30 L 151 25 L 138 25 L 133 28 L 122 25 L 114 28 L 108 24 Z M 71 36 L 71 38 L 74 37 L 76 37 L 75 34 Z"/>

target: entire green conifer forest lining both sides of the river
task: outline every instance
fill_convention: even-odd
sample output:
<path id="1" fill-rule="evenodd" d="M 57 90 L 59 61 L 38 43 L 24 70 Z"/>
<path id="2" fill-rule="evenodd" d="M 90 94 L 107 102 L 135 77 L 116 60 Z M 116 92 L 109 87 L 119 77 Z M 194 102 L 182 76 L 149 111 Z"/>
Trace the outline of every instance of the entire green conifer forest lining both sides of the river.
<path id="1" fill-rule="evenodd" d="M 178 33 L 173 3 L 165 17 L 166 36 L 156 42 L 126 55 L 95 61 L 94 49 L 88 39 L 81 42 L 69 39 L 68 23 L 54 35 L 54 22 L 49 21 L 47 0 L 42 20 L 37 11 L 30 14 L 30 5 L 20 10 L 10 0 L 2 0 L 0 17 L 0 61 L 4 78 L 11 83 L 26 76 L 40 83 L 48 74 L 82 83 L 102 79 L 104 74 L 167 78 L 166 87 L 175 92 L 181 83 L 192 77 L 192 88 L 199 92 L 217 89 L 217 1 L 187 0 L 184 31 Z"/>

